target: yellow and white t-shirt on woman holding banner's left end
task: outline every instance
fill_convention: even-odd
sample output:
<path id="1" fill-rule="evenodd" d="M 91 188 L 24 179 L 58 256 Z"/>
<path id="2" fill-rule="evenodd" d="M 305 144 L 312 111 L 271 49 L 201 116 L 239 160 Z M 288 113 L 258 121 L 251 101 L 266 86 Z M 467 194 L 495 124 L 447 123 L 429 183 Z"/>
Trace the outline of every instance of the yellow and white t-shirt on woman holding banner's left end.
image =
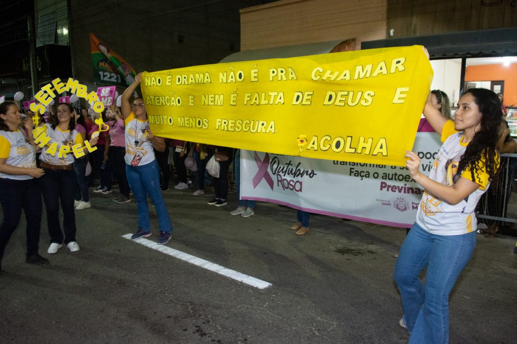
<path id="1" fill-rule="evenodd" d="M 131 166 L 142 166 L 155 160 L 153 144 L 147 139 L 149 121 L 140 121 L 134 112 L 126 118 L 126 156 L 124 160 Z"/>

